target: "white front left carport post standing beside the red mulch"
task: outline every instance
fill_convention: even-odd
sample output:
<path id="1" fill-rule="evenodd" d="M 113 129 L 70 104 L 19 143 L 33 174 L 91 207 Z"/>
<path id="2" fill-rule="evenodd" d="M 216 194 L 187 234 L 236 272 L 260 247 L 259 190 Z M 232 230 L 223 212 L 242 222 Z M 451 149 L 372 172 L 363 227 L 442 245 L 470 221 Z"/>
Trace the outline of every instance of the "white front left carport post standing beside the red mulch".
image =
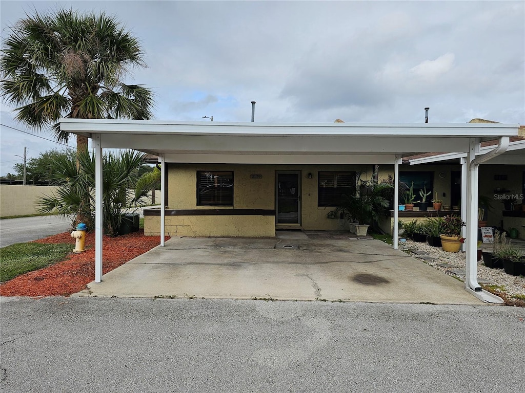
<path id="1" fill-rule="evenodd" d="M 95 282 L 102 281 L 102 144 L 100 134 L 91 136 L 95 148 Z"/>

